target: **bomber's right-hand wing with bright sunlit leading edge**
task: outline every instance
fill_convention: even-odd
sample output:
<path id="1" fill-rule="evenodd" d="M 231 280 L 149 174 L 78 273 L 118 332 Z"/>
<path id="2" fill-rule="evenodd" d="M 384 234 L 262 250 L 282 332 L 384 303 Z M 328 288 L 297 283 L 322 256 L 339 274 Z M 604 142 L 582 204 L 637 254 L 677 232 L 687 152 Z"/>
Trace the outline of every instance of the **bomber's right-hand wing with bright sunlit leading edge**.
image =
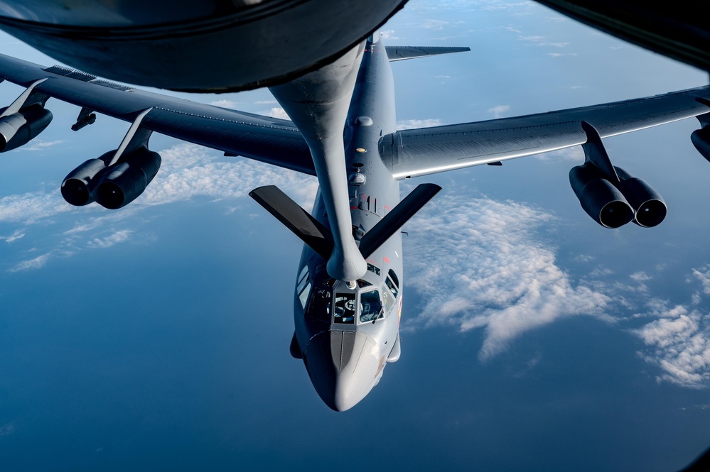
<path id="1" fill-rule="evenodd" d="M 602 138 L 710 112 L 710 87 L 544 114 L 390 133 L 380 141 L 396 179 L 497 163 L 577 146 L 587 141 L 582 121 Z"/>

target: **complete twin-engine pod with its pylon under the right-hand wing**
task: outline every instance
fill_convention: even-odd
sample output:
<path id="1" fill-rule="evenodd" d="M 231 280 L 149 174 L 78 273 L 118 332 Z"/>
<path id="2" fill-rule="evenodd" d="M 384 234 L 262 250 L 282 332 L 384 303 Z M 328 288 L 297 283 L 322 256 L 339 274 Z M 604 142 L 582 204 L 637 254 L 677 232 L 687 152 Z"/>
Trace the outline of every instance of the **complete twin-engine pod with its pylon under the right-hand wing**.
<path id="1" fill-rule="evenodd" d="M 582 208 L 598 224 L 618 228 L 633 221 L 644 228 L 660 224 L 667 209 L 663 198 L 645 181 L 612 165 L 601 137 L 582 122 L 588 141 L 582 145 L 586 162 L 569 171 L 569 183 Z"/>

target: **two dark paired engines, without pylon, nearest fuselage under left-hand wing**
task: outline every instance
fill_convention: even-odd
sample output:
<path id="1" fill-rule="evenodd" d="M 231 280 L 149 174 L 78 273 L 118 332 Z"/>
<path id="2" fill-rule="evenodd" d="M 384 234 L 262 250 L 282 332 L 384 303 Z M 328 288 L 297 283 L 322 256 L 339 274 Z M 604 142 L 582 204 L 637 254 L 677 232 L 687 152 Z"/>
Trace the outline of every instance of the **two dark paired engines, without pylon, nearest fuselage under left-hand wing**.
<path id="1" fill-rule="evenodd" d="M 158 173 L 161 157 L 141 146 L 109 165 L 116 153 L 109 151 L 72 170 L 62 182 L 64 199 L 77 207 L 97 202 L 104 208 L 119 209 L 138 198 Z"/>

